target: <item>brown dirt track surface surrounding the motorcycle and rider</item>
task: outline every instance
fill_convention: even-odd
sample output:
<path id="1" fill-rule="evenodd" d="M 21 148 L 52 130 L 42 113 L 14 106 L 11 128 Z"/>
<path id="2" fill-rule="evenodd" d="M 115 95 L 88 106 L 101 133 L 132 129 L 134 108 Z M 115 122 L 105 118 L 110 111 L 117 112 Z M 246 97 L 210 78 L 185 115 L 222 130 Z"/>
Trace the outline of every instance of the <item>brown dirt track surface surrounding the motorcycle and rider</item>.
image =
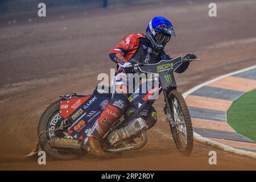
<path id="1" fill-rule="evenodd" d="M 191 2 L 194 2 L 191 4 Z M 154 104 L 159 120 L 148 131 L 148 143 L 122 156 L 61 162 L 47 159 L 39 166 L 26 159 L 34 147 L 43 110 L 61 94 L 89 94 L 99 73 L 115 68 L 108 52 L 125 35 L 144 32 L 155 15 L 170 18 L 176 38 L 167 46 L 172 56 L 193 52 L 201 58 L 187 72 L 176 75 L 178 89 L 256 64 L 256 2 L 217 1 L 217 17 L 208 16 L 208 1 L 179 1 L 163 5 L 119 7 L 51 13 L 44 20 L 30 16 L 8 18 L 0 24 L 0 169 L 36 170 L 174 170 L 256 169 L 256 160 L 195 143 L 192 155 L 181 156 L 163 115 L 163 97 Z M 86 11 L 86 13 L 84 13 Z M 61 15 L 65 15 L 65 17 Z M 13 17 L 12 17 L 13 18 Z M 6 24 L 5 24 L 6 22 Z M 63 27 L 66 27 L 66 29 Z M 217 165 L 208 152 L 217 152 Z"/>

